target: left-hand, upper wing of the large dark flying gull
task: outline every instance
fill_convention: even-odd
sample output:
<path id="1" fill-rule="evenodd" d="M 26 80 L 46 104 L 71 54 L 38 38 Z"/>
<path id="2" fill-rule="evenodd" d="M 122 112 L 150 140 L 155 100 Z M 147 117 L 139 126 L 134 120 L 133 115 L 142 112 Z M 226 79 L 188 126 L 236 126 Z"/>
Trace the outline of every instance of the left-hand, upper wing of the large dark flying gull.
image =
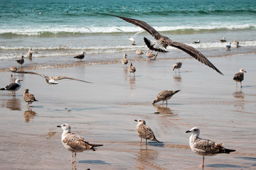
<path id="1" fill-rule="evenodd" d="M 114 15 L 110 15 L 110 16 L 114 16 Z M 144 21 L 140 21 L 132 18 L 125 18 L 122 16 L 115 16 L 115 17 L 121 18 L 122 20 L 127 21 L 128 23 L 132 23 L 135 26 L 139 26 L 140 28 L 146 30 L 146 32 L 152 35 L 156 40 L 159 40 L 161 38 L 161 34 L 157 32 L 153 27 L 149 26 L 149 24 L 145 23 Z"/>

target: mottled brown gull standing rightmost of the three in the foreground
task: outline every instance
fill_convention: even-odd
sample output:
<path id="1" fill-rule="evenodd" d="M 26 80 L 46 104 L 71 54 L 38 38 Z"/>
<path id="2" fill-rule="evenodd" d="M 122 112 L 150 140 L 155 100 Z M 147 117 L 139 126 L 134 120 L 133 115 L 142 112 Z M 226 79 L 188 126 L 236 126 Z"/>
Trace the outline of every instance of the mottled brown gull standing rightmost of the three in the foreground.
<path id="1" fill-rule="evenodd" d="M 222 143 L 218 144 L 213 141 L 200 138 L 200 130 L 196 127 L 186 131 L 186 133 L 188 132 L 192 132 L 191 137 L 189 137 L 189 146 L 191 147 L 191 150 L 194 153 L 203 156 L 203 162 L 199 166 L 203 167 L 205 156 L 214 156 L 216 154 L 229 154 L 230 152 L 235 152 L 233 149 L 225 149 L 225 147 L 222 146 Z"/>

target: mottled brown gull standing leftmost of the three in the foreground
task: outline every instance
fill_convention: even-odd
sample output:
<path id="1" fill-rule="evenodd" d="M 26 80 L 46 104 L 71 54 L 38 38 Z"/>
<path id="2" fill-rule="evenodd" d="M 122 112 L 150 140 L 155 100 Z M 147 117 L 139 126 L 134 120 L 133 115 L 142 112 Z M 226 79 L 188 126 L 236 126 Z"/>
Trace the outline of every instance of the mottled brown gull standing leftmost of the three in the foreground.
<path id="1" fill-rule="evenodd" d="M 103 146 L 86 142 L 83 137 L 70 132 L 71 127 L 66 123 L 63 125 L 58 125 L 57 127 L 63 129 L 63 133 L 61 135 L 61 142 L 63 143 L 65 149 L 68 149 L 70 152 L 72 152 L 72 163 L 75 163 L 75 156 L 77 152 L 83 152 L 85 150 L 95 151 L 96 149 L 94 147 Z M 75 154 L 73 155 L 73 153 Z"/>

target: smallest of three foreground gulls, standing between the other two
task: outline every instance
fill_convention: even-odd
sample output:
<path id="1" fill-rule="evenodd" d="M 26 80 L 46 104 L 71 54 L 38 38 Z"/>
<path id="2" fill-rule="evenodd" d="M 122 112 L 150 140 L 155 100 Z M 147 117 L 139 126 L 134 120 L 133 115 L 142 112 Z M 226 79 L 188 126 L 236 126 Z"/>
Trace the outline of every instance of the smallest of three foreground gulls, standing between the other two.
<path id="1" fill-rule="evenodd" d="M 147 140 L 153 140 L 155 142 L 159 142 L 159 140 L 156 140 L 153 130 L 151 130 L 151 128 L 149 128 L 146 125 L 145 120 L 139 119 L 134 121 L 138 122 L 136 130 L 137 130 L 137 134 L 141 138 L 141 144 L 142 144 L 142 138 L 145 139 L 146 142 Z"/>

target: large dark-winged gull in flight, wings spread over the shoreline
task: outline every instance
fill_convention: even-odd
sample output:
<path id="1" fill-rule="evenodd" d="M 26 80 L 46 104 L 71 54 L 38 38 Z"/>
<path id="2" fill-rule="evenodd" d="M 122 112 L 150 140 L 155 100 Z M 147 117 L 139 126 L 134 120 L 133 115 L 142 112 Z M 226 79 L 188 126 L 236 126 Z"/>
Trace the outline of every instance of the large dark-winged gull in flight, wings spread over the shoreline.
<path id="1" fill-rule="evenodd" d="M 110 16 L 113 16 L 113 15 L 110 15 Z M 199 62 L 202 62 L 203 64 L 206 64 L 208 67 L 215 69 L 215 71 L 218 72 L 219 74 L 222 74 L 204 55 L 201 54 L 201 52 L 196 50 L 194 47 L 185 45 L 181 42 L 172 41 L 168 37 L 161 35 L 159 32 L 157 32 L 154 28 L 149 26 L 149 24 L 145 23 L 144 21 L 139 21 L 132 18 L 125 18 L 122 16 L 116 16 L 116 17 L 121 18 L 122 20 L 127 21 L 128 23 L 132 23 L 135 26 L 139 26 L 140 28 L 146 30 L 146 32 L 148 32 L 151 36 L 153 36 L 154 39 L 156 39 L 156 41 L 152 41 L 147 38 L 144 38 L 144 42 L 146 43 L 146 46 L 149 47 L 150 50 L 154 50 L 158 52 L 168 52 L 166 50 L 166 47 L 168 45 L 171 47 L 176 47 L 179 50 L 183 50 L 183 52 L 188 53 L 188 55 L 191 55 Z"/>

